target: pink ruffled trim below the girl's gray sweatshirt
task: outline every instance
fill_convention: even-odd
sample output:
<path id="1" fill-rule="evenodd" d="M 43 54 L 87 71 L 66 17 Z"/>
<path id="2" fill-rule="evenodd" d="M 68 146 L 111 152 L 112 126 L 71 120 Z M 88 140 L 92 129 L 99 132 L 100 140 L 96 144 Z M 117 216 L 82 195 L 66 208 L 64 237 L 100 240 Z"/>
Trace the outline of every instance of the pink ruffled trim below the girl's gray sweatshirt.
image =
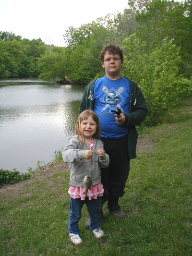
<path id="1" fill-rule="evenodd" d="M 92 189 L 87 191 L 87 195 L 84 195 L 84 188 L 83 187 L 74 187 L 69 186 L 69 195 L 73 199 L 81 198 L 81 200 L 85 200 L 85 197 L 88 197 L 89 200 L 96 199 L 97 196 L 102 196 L 104 193 L 103 185 L 101 183 L 98 183 L 96 185 L 93 185 Z"/>

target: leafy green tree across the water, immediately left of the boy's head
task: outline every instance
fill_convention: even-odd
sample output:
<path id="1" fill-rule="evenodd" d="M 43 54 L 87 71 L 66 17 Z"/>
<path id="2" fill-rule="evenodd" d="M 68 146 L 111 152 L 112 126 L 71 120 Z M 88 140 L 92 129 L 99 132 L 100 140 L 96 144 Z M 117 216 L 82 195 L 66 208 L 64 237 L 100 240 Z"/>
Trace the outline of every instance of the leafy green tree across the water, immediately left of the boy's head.
<path id="1" fill-rule="evenodd" d="M 86 32 L 89 32 L 86 36 L 82 29 L 83 27 L 79 29 L 80 38 L 71 41 L 67 49 L 70 52 L 68 66 L 70 67 L 69 75 L 72 81 L 86 83 L 94 79 L 96 73 L 102 71 L 99 51 L 108 40 L 108 31 L 96 22 L 88 24 Z M 81 43 L 76 43 L 77 41 Z"/>

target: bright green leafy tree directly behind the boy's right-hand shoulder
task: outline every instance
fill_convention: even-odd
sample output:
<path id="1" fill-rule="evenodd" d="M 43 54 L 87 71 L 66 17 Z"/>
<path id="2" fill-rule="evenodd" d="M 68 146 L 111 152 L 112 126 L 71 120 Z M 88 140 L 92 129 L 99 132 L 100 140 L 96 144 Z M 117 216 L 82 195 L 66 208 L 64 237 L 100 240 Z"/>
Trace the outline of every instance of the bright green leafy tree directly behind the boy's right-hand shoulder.
<path id="1" fill-rule="evenodd" d="M 173 39 L 164 38 L 161 46 L 146 51 L 147 44 L 136 34 L 124 40 L 129 55 L 124 60 L 124 76 L 137 81 L 144 92 L 149 113 L 148 125 L 165 121 L 186 93 L 192 92 L 192 81 L 180 76 L 180 49 Z"/>

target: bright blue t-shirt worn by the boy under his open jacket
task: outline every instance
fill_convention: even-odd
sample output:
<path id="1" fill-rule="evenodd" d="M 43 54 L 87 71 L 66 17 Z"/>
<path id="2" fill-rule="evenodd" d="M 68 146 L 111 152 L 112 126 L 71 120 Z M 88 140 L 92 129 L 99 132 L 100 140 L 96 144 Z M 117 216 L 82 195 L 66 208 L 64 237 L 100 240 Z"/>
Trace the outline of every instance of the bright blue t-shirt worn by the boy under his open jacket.
<path id="1" fill-rule="evenodd" d="M 96 80 L 94 88 L 95 108 L 101 125 L 101 136 L 119 138 L 128 134 L 128 128 L 118 125 L 110 110 L 120 108 L 123 113 L 129 111 L 130 87 L 126 78 L 111 80 L 103 76 Z"/>

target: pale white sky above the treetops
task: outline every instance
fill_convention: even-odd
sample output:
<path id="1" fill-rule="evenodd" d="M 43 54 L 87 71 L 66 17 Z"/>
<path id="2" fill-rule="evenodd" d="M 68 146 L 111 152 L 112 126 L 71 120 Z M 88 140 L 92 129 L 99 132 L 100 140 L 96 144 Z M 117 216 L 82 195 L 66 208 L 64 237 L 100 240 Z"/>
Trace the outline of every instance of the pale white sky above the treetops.
<path id="1" fill-rule="evenodd" d="M 0 0 L 0 31 L 64 47 L 69 26 L 80 27 L 126 7 L 127 0 Z"/>

